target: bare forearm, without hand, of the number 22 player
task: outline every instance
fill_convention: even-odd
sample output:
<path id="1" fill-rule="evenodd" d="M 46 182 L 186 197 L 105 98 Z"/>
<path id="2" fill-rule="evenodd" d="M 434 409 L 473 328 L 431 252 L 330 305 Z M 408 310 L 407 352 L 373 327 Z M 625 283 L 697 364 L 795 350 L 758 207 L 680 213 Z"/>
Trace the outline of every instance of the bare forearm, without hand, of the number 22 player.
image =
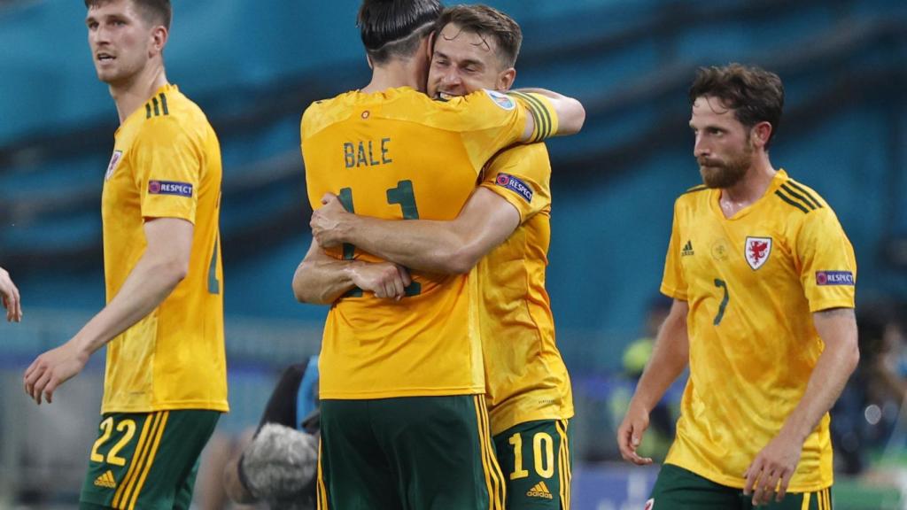
<path id="1" fill-rule="evenodd" d="M 80 351 L 91 355 L 158 308 L 183 278 L 185 270 L 180 263 L 143 256 L 116 296 L 73 341 Z"/>

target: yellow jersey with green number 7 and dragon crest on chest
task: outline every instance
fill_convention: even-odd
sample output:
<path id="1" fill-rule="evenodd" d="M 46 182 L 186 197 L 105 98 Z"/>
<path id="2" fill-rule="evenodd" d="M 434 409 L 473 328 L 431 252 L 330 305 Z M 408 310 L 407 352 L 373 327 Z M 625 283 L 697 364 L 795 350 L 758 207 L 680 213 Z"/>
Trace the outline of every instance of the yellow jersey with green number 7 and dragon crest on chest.
<path id="1" fill-rule="evenodd" d="M 674 207 L 661 291 L 688 301 L 690 375 L 666 462 L 743 487 L 824 349 L 812 312 L 853 308 L 856 260 L 834 211 L 783 170 L 732 218 L 720 192 L 698 186 Z M 806 439 L 791 492 L 832 485 L 828 425 Z"/>

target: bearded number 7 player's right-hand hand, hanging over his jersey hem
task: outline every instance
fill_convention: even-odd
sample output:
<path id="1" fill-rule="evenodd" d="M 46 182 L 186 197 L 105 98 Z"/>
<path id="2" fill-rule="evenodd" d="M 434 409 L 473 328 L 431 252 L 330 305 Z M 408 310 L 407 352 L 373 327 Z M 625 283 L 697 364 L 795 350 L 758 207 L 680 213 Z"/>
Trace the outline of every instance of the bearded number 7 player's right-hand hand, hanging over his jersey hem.
<path id="1" fill-rule="evenodd" d="M 755 506 L 768 505 L 772 495 L 775 495 L 775 501 L 783 500 L 802 451 L 803 441 L 784 431 L 775 436 L 746 469 L 743 494 L 752 494 Z"/>

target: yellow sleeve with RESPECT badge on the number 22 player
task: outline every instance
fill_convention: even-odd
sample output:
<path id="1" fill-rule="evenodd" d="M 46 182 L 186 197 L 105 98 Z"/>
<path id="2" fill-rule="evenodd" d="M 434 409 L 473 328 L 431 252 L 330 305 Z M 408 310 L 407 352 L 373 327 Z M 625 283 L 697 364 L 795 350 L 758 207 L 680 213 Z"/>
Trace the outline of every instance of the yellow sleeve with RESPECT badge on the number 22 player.
<path id="1" fill-rule="evenodd" d="M 169 118 L 143 126 L 134 154 L 135 184 L 144 218 L 180 218 L 195 223 L 203 152 Z"/>

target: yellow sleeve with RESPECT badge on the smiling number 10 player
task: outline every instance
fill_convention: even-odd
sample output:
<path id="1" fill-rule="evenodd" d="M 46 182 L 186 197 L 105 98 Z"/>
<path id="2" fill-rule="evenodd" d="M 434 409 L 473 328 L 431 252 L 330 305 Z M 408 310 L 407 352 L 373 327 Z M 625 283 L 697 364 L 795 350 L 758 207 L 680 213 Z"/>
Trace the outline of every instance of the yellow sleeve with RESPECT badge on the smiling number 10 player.
<path id="1" fill-rule="evenodd" d="M 527 221 L 551 206 L 551 162 L 544 144 L 521 145 L 488 163 L 480 184 L 520 212 Z"/>

